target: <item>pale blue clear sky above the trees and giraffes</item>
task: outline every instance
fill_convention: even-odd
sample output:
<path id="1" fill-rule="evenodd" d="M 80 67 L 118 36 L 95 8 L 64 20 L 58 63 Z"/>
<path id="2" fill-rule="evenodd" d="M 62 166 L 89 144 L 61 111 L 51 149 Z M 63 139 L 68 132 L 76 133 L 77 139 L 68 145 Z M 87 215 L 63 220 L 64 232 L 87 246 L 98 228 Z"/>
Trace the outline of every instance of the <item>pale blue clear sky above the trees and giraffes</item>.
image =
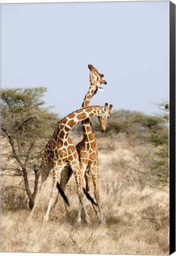
<path id="1" fill-rule="evenodd" d="M 168 100 L 169 1 L 1 5 L 1 88 L 47 87 L 60 116 L 81 107 L 88 64 L 105 102 L 147 114 Z"/>

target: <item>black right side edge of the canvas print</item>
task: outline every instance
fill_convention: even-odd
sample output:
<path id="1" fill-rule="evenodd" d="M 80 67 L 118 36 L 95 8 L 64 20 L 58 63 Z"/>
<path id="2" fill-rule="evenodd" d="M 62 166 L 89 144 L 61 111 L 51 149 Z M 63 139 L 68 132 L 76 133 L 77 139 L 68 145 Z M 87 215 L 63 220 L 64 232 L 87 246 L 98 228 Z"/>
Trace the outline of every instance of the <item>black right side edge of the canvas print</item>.
<path id="1" fill-rule="evenodd" d="M 175 252 L 175 4 L 169 2 L 169 254 Z"/>

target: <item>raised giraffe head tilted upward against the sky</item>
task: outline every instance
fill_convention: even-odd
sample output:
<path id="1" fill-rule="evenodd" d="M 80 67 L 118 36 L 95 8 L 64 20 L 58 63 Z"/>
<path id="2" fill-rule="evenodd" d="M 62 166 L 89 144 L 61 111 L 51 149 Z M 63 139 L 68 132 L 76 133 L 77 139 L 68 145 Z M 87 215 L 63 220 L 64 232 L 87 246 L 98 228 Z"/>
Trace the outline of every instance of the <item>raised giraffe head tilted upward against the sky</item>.
<path id="1" fill-rule="evenodd" d="M 100 89 L 100 91 L 103 91 L 103 87 L 101 86 L 101 84 L 107 84 L 107 82 L 102 79 L 104 75 L 99 73 L 97 69 L 95 69 L 94 66 L 91 64 L 88 65 L 88 68 L 90 70 L 91 85 L 94 85 L 96 87 L 95 92 L 97 92 L 97 89 Z"/>

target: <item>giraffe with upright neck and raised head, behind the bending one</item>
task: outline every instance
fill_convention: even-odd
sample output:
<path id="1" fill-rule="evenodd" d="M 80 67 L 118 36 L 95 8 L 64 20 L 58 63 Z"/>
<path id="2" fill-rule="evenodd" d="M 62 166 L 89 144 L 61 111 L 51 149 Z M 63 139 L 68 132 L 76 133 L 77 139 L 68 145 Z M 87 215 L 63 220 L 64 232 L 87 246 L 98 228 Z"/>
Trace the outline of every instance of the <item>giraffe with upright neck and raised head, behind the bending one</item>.
<path id="1" fill-rule="evenodd" d="M 90 69 L 90 82 L 91 85 L 89 87 L 89 90 L 87 94 L 85 95 L 84 101 L 82 103 L 82 108 L 88 107 L 89 102 L 92 98 L 92 96 L 97 92 L 98 89 L 103 91 L 103 87 L 101 87 L 101 84 L 107 84 L 106 81 L 104 81 L 103 74 L 100 74 L 97 69 L 94 68 L 93 65 L 88 65 L 88 68 Z M 110 110 L 113 106 L 110 105 Z M 101 131 L 105 132 L 106 126 L 107 126 L 107 118 L 104 117 L 98 117 L 101 121 Z M 97 201 L 97 206 L 100 214 L 100 222 L 105 223 L 105 219 L 103 216 L 103 211 L 101 209 L 100 205 L 100 194 L 98 191 L 98 148 L 97 148 L 97 142 L 94 136 L 94 132 L 91 128 L 91 122 L 89 119 L 86 119 L 82 121 L 82 130 L 83 130 L 83 139 L 81 142 L 79 142 L 76 145 L 76 149 L 78 151 L 79 160 L 81 162 L 81 171 L 82 174 L 85 177 L 86 181 L 86 191 L 85 194 L 89 193 L 89 184 L 91 182 L 91 178 L 93 180 L 94 185 L 94 196 Z M 93 169 L 93 171 L 92 171 Z M 69 167 L 66 167 L 62 170 L 61 176 L 60 176 L 60 187 L 63 191 L 66 189 L 66 185 L 68 184 L 69 179 L 71 178 L 72 171 Z M 57 199 L 56 199 L 57 202 Z M 55 202 L 55 204 L 56 204 Z M 92 206 L 94 207 L 94 204 L 92 203 Z M 66 215 L 67 213 L 67 207 L 65 204 L 66 209 Z M 95 207 L 94 207 L 95 210 Z M 97 214 L 96 210 L 95 213 Z M 79 206 L 79 222 L 81 222 L 81 206 Z"/>

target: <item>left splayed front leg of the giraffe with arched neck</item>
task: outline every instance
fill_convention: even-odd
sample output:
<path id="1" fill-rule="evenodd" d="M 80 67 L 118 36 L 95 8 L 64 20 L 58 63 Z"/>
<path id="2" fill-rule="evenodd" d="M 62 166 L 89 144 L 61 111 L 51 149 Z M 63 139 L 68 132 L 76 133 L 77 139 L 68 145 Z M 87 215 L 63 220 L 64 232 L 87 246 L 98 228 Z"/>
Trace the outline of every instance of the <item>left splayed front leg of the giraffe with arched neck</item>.
<path id="1" fill-rule="evenodd" d="M 62 171 L 62 168 L 64 167 L 63 163 L 55 162 L 53 165 L 54 165 L 54 169 L 53 169 L 53 187 L 52 187 L 52 190 L 50 191 L 49 205 L 47 207 L 46 214 L 44 215 L 43 222 L 47 222 L 49 220 L 50 209 L 52 207 L 53 200 L 56 197 L 57 180 L 59 179 L 59 174 Z"/>

